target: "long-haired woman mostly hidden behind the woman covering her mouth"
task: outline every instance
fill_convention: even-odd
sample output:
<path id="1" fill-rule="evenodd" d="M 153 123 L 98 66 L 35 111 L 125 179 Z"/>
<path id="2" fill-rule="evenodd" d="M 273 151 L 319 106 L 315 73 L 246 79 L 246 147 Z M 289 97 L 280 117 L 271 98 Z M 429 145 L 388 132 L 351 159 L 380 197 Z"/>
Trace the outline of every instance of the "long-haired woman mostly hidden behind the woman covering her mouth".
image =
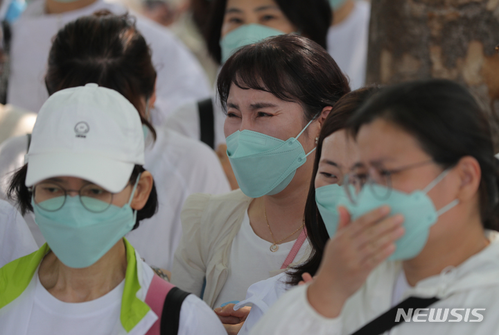
<path id="1" fill-rule="evenodd" d="M 304 214 L 307 239 L 312 247 L 310 257 L 304 264 L 299 264 L 286 273 L 252 284 L 247 290 L 246 299 L 238 304 L 227 304 L 215 309 L 222 323 L 233 323 L 226 325 L 229 334 L 249 334 L 265 311 L 281 295 L 299 284 L 302 276 L 312 277 L 317 272 L 324 246 L 329 239 L 329 227 L 338 223 L 337 216 L 329 216 L 331 221 L 324 221 L 319 213 L 323 212 L 324 207 L 335 208 L 335 204 L 341 200 L 338 191 L 341 190 L 344 176 L 358 162 L 356 142 L 345 127 L 353 112 L 376 92 L 378 87 L 365 87 L 345 94 L 335 103 L 324 121 L 317 141 L 317 154 Z M 252 304 L 252 307 L 243 307 L 247 304 Z"/>

